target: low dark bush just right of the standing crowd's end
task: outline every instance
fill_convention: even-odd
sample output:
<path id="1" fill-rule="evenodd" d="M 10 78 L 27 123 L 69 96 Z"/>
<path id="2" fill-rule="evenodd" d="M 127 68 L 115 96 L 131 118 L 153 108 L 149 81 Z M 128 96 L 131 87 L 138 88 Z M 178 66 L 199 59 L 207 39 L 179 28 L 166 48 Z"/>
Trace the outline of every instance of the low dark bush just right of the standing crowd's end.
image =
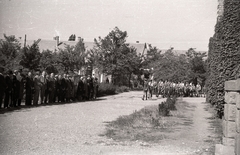
<path id="1" fill-rule="evenodd" d="M 100 83 L 98 88 L 98 96 L 116 94 L 116 86 L 108 83 Z"/>

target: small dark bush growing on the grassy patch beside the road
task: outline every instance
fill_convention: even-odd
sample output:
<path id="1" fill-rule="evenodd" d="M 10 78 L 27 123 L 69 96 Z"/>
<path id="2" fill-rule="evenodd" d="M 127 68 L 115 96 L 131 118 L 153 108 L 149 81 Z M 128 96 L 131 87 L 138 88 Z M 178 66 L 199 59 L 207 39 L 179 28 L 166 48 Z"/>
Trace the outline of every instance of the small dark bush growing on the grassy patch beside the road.
<path id="1" fill-rule="evenodd" d="M 166 101 L 158 105 L 158 113 L 160 116 L 169 116 L 170 110 L 176 110 L 176 97 L 167 98 Z"/>

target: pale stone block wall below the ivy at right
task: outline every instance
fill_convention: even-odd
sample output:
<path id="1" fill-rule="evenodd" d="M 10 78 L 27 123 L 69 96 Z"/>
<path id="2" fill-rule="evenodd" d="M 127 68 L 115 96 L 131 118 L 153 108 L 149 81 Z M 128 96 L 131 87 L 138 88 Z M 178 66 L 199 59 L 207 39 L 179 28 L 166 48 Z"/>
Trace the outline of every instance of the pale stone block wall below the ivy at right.
<path id="1" fill-rule="evenodd" d="M 240 155 L 240 79 L 225 82 L 222 144 L 215 155 Z"/>

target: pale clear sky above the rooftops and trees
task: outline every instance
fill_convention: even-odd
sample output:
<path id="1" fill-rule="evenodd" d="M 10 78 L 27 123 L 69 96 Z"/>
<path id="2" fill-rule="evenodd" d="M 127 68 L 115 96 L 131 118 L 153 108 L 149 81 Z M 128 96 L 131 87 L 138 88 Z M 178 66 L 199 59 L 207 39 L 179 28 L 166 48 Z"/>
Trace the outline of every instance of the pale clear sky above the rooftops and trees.
<path id="1" fill-rule="evenodd" d="M 129 43 L 208 51 L 217 5 L 217 0 L 0 0 L 0 38 L 68 40 L 75 34 L 93 42 L 117 26 L 127 31 Z"/>

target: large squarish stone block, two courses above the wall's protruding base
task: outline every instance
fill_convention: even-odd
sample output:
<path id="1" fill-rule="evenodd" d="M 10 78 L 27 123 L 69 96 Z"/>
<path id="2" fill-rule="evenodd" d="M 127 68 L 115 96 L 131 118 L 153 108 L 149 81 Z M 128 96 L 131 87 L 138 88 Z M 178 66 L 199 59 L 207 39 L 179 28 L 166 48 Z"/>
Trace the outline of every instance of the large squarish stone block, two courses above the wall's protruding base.
<path id="1" fill-rule="evenodd" d="M 234 138 L 236 135 L 236 123 L 235 121 L 223 120 L 223 135 L 226 138 Z"/>

